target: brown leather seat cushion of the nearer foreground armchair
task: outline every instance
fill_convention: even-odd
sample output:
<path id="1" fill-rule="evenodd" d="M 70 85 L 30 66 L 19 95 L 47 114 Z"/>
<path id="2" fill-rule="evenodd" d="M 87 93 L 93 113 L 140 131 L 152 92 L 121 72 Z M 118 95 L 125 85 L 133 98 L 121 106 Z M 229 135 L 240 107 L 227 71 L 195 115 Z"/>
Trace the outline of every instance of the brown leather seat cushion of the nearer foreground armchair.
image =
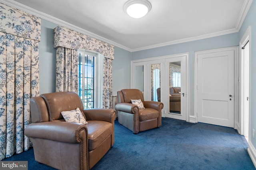
<path id="1" fill-rule="evenodd" d="M 87 121 L 89 151 L 96 149 L 112 134 L 112 123 L 106 121 Z"/>

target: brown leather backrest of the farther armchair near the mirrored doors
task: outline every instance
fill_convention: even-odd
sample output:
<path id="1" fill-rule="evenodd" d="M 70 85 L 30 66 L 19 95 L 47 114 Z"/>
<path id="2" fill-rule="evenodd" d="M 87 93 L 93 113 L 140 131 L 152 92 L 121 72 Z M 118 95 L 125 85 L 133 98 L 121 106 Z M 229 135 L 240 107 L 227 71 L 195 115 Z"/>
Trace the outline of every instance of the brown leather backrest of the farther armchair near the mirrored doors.
<path id="1" fill-rule="evenodd" d="M 134 100 L 140 99 L 142 102 L 144 102 L 143 94 L 138 89 L 122 89 L 121 92 L 124 98 L 124 100 L 121 99 L 121 101 L 123 101 L 124 103 L 132 103 L 131 99 L 134 99 Z M 122 96 L 122 95 L 118 95 L 118 96 Z"/>

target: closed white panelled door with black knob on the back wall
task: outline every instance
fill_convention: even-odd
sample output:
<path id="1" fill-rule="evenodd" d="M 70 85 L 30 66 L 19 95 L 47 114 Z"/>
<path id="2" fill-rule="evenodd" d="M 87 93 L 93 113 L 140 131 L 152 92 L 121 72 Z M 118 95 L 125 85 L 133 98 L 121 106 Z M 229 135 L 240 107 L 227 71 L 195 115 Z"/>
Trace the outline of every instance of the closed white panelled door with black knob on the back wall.
<path id="1" fill-rule="evenodd" d="M 198 122 L 234 127 L 234 50 L 198 52 L 195 57 Z"/>

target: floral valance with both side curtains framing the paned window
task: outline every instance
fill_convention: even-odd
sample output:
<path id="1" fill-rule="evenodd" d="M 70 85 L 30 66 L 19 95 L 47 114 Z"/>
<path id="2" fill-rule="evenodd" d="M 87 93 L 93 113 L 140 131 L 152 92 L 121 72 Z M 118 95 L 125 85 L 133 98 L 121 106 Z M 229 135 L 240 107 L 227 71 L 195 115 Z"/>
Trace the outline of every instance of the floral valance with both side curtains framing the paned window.
<path id="1" fill-rule="evenodd" d="M 92 37 L 89 37 L 88 35 L 84 35 L 82 33 L 78 33 L 76 31 L 73 31 L 71 29 L 62 27 L 62 26 L 58 26 L 56 28 L 54 28 L 54 47 L 58 47 L 57 50 L 57 70 L 56 70 L 56 91 L 60 92 L 60 91 L 66 91 L 66 88 L 62 88 L 62 86 L 60 86 L 60 83 L 66 84 L 65 86 L 72 86 L 72 87 L 76 87 L 76 78 L 74 76 L 74 74 L 78 73 L 78 68 L 77 68 L 77 64 L 75 62 L 63 62 L 63 58 L 64 55 L 66 55 L 66 53 L 70 53 L 71 52 L 65 52 L 64 49 L 69 49 L 69 51 L 71 51 L 71 49 L 84 49 L 84 50 L 88 50 L 88 51 L 93 51 L 96 53 L 100 53 L 102 55 L 104 55 L 104 77 L 103 77 L 103 82 L 104 82 L 104 87 L 103 87 L 103 107 L 104 108 L 111 108 L 112 107 L 112 60 L 114 59 L 114 46 L 110 45 L 108 43 L 105 43 L 103 41 L 100 41 L 98 39 L 94 39 Z M 60 50 L 60 47 L 64 47 L 62 48 L 63 50 Z M 60 51 L 64 51 L 64 53 L 60 53 Z M 76 54 L 75 54 L 76 53 Z M 74 51 L 71 56 L 72 57 L 76 57 L 77 52 Z M 77 59 L 73 59 L 74 61 Z M 66 65 L 64 63 L 68 63 L 68 64 L 74 64 L 74 65 Z M 73 68 L 73 72 L 72 70 L 70 70 L 70 73 L 68 73 L 68 69 L 66 67 L 69 68 Z M 66 72 L 64 72 L 64 68 L 66 68 Z M 70 77 L 68 77 L 69 75 L 72 75 Z M 64 78 L 66 77 L 66 78 Z M 75 84 L 75 85 L 71 85 Z M 78 92 L 78 87 L 76 88 L 72 88 L 73 91 Z"/>

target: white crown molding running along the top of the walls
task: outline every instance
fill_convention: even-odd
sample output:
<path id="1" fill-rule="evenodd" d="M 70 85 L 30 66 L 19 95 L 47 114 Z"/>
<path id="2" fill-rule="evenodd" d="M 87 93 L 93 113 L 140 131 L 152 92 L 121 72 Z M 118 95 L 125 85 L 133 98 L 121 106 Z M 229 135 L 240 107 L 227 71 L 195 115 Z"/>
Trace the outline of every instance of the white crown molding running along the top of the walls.
<path id="1" fill-rule="evenodd" d="M 136 48 L 136 49 L 130 49 L 128 47 L 125 47 L 124 45 L 121 45 L 119 43 L 116 43 L 114 41 L 111 41 L 109 39 L 106 39 L 104 37 L 101 37 L 100 35 L 97 35 L 97 34 L 94 34 L 90 31 L 87 31 L 85 29 L 82 29 L 80 27 L 77 27 L 76 25 L 72 25 L 66 21 L 63 21 L 63 20 L 60 20 L 58 18 L 55 18 L 53 16 L 50 16 L 48 14 L 45 14 L 45 13 L 42 13 L 40 11 L 37 11 L 37 10 L 34 10 L 33 8 L 30 8 L 28 6 L 25 6 L 23 4 L 20 4 L 14 0 L 0 0 L 0 2 L 6 4 L 6 5 L 9 5 L 9 6 L 12 6 L 14 8 L 17 8 L 19 10 L 23 10 L 25 12 L 28 12 L 30 14 L 33 14 L 35 16 L 38 16 L 44 20 L 48 20 L 50 22 L 53 22 L 53 23 L 56 23 L 58 25 L 61 25 L 61 26 L 64 26 L 64 27 L 67 27 L 69 29 L 72 29 L 74 31 L 78 31 L 80 33 L 84 33 L 88 36 L 91 36 L 93 38 L 96 38 L 98 40 L 101 40 L 101 41 L 104 41 L 106 43 L 110 43 L 116 47 L 120 47 L 126 51 L 129 51 L 129 52 L 135 52 L 135 51 L 142 51 L 142 50 L 146 50 L 146 49 L 152 49 L 152 48 L 157 48 L 157 47 L 163 47 L 163 46 L 168 46 L 168 45 L 174 45 L 174 44 L 179 44 L 179 43 L 185 43 L 185 42 L 189 42 L 189 41 L 196 41 L 196 40 L 200 40 L 200 39 L 206 39 L 206 38 L 211 38 L 211 37 L 216 37 L 216 36 L 220 36 L 220 35 L 226 35 L 226 34 L 230 34 L 230 33 L 236 33 L 240 30 L 241 26 L 242 26 L 242 23 L 244 22 L 244 19 L 250 9 L 250 6 L 252 4 L 252 1 L 253 0 L 245 0 L 244 1 L 244 4 L 242 6 L 242 10 L 240 12 L 240 16 L 238 18 L 238 21 L 236 23 L 236 28 L 233 28 L 233 29 L 228 29 L 228 30 L 224 30 L 224 31 L 219 31 L 219 32 L 216 32 L 216 33 L 210 33 L 210 34 L 205 34 L 205 35 L 200 35 L 200 36 L 196 36 L 196 37 L 190 37 L 190 38 L 185 38 L 185 39 L 178 39 L 178 40 L 174 40 L 174 41 L 169 41 L 169 42 L 166 42 L 166 43 L 159 43 L 159 44 L 156 44 L 156 45 L 150 45 L 150 46 L 146 46 L 146 47 L 141 47 L 141 48 Z"/>

